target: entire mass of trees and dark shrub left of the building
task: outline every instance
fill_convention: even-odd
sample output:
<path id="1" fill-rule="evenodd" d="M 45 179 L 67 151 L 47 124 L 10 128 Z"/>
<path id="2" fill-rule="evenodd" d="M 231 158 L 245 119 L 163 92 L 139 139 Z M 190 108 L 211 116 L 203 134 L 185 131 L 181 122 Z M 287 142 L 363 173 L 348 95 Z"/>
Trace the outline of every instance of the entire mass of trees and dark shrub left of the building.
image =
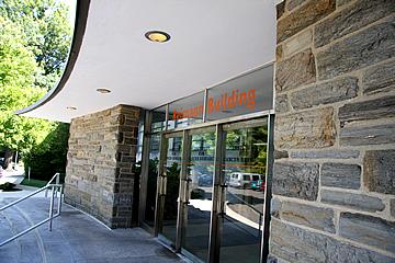
<path id="1" fill-rule="evenodd" d="M 14 113 L 60 78 L 70 43 L 61 1 L 0 0 L 0 148 L 22 152 L 29 164 L 41 163 L 42 171 L 33 174 L 45 171 L 44 178 L 65 170 L 68 126 Z"/>

